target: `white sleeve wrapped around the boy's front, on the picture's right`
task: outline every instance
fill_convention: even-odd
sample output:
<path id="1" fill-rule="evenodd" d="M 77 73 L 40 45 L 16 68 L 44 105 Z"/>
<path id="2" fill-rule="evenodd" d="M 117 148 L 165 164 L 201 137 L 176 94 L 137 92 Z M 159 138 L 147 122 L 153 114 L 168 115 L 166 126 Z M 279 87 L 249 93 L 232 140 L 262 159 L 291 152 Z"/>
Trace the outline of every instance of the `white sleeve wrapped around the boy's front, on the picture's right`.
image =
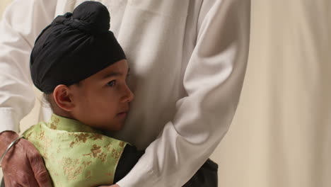
<path id="1" fill-rule="evenodd" d="M 250 1 L 204 1 L 175 118 L 119 184 L 182 186 L 228 131 L 248 61 Z"/>

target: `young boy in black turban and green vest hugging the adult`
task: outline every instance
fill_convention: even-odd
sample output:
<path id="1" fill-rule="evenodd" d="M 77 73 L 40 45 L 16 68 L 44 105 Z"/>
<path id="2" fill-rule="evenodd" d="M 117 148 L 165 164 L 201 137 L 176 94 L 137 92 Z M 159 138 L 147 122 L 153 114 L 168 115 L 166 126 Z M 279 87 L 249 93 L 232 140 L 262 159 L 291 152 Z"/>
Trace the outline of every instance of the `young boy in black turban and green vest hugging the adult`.
<path id="1" fill-rule="evenodd" d="M 124 177 L 143 151 L 103 135 L 120 130 L 134 95 L 129 67 L 109 31 L 107 8 L 85 1 L 57 16 L 35 42 L 30 57 L 33 84 L 53 111 L 49 123 L 26 130 L 45 161 L 53 186 L 111 185 Z M 211 161 L 185 186 L 215 186 Z"/>

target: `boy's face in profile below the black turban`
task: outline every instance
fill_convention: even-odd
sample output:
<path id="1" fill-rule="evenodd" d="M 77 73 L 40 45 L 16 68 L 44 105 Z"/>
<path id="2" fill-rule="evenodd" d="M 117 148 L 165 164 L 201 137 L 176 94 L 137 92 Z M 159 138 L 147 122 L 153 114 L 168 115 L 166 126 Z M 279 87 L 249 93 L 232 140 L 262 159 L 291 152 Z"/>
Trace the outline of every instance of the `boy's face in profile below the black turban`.
<path id="1" fill-rule="evenodd" d="M 120 130 L 134 98 L 127 86 L 128 71 L 127 60 L 120 60 L 70 86 L 73 117 L 93 128 Z"/>

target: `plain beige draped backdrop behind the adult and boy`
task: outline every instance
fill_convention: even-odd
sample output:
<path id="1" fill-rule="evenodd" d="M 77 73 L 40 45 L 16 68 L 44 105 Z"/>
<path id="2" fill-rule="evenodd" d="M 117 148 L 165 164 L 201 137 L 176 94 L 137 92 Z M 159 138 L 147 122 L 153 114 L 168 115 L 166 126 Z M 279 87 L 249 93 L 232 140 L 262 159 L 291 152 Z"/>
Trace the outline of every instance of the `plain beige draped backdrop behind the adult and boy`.
<path id="1" fill-rule="evenodd" d="M 252 0 L 240 103 L 211 156 L 220 187 L 331 186 L 330 13 L 330 0 Z"/>

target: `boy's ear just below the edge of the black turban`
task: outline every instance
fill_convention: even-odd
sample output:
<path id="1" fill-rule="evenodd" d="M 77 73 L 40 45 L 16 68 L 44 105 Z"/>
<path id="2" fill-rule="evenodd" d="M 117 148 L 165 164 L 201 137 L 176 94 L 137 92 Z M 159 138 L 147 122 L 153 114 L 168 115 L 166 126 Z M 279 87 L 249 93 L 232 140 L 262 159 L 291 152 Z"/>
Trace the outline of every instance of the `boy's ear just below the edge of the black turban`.
<path id="1" fill-rule="evenodd" d="M 62 108 L 64 111 L 72 111 L 75 105 L 68 86 L 64 84 L 57 85 L 53 91 L 53 96 L 59 108 Z"/>

